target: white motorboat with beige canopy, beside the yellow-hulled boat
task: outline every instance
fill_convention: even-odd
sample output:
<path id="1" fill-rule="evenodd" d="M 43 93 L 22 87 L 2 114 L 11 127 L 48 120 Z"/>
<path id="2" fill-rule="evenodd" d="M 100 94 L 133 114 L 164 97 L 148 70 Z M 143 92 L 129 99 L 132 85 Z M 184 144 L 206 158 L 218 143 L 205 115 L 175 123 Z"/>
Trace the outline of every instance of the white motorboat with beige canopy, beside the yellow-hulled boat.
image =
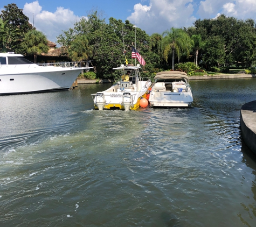
<path id="1" fill-rule="evenodd" d="M 154 80 L 149 95 L 150 107 L 191 107 L 193 96 L 186 73 L 160 72 Z"/>

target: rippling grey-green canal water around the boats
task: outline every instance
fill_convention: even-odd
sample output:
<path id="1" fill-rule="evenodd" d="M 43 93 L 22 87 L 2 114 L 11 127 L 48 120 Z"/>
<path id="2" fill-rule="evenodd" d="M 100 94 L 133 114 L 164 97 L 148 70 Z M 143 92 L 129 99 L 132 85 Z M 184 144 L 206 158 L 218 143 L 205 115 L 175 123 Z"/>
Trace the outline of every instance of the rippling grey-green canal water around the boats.
<path id="1" fill-rule="evenodd" d="M 189 109 L 93 110 L 110 84 L 0 96 L 0 226 L 255 226 L 256 79 L 190 84 Z"/>

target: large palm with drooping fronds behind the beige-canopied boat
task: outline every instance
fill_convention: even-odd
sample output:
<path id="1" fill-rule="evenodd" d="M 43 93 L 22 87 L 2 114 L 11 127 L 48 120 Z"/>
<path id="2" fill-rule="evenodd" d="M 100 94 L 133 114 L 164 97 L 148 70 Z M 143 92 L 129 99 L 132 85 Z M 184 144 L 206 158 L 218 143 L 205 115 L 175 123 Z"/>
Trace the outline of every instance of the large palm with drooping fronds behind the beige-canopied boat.
<path id="1" fill-rule="evenodd" d="M 171 27 L 170 31 L 163 32 L 163 39 L 161 41 L 161 52 L 163 59 L 168 62 L 169 55 L 172 54 L 172 70 L 174 70 L 175 53 L 179 57 L 181 53 L 189 55 L 191 49 L 191 40 L 182 29 L 175 29 Z"/>

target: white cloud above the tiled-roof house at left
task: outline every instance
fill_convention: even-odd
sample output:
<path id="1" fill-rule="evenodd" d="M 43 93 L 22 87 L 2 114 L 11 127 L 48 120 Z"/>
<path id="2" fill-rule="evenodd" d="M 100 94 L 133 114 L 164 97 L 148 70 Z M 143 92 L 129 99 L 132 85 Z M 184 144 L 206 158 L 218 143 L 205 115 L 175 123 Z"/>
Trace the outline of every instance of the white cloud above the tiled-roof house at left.
<path id="1" fill-rule="evenodd" d="M 29 22 L 32 25 L 34 18 L 34 27 L 46 34 L 47 39 L 52 42 L 56 42 L 56 37 L 62 34 L 62 31 L 68 30 L 76 21 L 80 20 L 73 11 L 63 7 L 58 7 L 55 12 L 42 11 L 38 1 L 26 3 L 23 13 L 29 17 Z"/>

